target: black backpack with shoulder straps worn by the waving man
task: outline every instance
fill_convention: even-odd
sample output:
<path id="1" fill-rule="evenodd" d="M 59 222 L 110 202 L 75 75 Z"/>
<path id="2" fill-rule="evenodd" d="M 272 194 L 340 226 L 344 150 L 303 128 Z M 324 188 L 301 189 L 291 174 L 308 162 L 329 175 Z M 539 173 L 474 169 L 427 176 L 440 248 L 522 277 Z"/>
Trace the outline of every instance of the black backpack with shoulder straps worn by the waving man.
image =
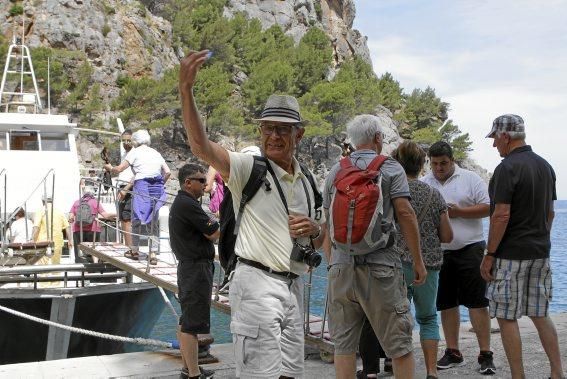
<path id="1" fill-rule="evenodd" d="M 309 181 L 311 188 L 313 189 L 313 194 L 315 197 L 315 210 L 316 214 L 320 212 L 321 205 L 323 204 L 323 196 L 317 188 L 315 183 L 315 178 L 303 163 L 300 163 L 301 171 Z M 234 208 L 232 203 L 232 194 L 228 187 L 225 187 L 224 198 L 220 204 L 220 237 L 218 243 L 218 253 L 219 261 L 224 269 L 224 280 L 220 288 L 224 287 L 228 282 L 230 273 L 236 267 L 237 256 L 234 253 L 234 245 L 236 244 L 236 236 L 238 235 L 238 228 L 240 227 L 240 219 L 242 217 L 242 212 L 244 212 L 244 207 L 248 203 L 256 192 L 262 187 L 266 186 L 269 190 L 270 183 L 266 178 L 268 173 L 268 160 L 265 157 L 254 156 L 254 165 L 252 166 L 252 172 L 250 173 L 250 178 L 246 182 L 244 189 L 242 190 L 242 199 L 238 207 L 238 215 L 235 217 Z"/>

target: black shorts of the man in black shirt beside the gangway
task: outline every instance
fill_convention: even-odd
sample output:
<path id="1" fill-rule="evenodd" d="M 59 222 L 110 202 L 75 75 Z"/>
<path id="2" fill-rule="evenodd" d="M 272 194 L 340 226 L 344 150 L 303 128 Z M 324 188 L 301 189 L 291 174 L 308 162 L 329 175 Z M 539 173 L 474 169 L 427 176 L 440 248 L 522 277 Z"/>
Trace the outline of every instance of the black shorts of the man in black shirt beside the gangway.
<path id="1" fill-rule="evenodd" d="M 179 261 L 177 286 L 181 317 L 181 332 L 207 334 L 211 329 L 211 295 L 213 293 L 213 262 Z"/>

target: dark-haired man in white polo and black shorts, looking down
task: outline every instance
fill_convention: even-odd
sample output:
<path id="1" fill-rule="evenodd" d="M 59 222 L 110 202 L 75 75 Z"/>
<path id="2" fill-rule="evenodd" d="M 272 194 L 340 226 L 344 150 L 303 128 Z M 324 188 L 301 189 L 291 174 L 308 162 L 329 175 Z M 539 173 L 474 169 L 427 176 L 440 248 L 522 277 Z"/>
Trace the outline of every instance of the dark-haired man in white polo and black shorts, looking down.
<path id="1" fill-rule="evenodd" d="M 453 149 L 443 141 L 429 148 L 431 172 L 422 181 L 437 188 L 449 207 L 453 228 L 453 241 L 441 244 L 443 266 L 439 272 L 437 310 L 441 311 L 441 324 L 447 348 L 437 362 L 443 370 L 463 365 L 459 351 L 459 306 L 469 310 L 480 353 L 479 372 L 495 373 L 490 351 L 490 317 L 485 297 L 486 282 L 480 275 L 480 263 L 486 247 L 482 219 L 488 217 L 490 199 L 486 183 L 476 173 L 460 168 L 453 159 Z"/>

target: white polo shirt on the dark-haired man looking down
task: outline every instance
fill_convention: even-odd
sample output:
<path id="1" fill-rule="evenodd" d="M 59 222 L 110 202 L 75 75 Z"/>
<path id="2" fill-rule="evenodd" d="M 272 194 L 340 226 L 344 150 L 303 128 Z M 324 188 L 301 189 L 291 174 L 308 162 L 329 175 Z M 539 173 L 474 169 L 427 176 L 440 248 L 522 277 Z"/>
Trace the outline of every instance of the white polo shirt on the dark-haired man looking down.
<path id="1" fill-rule="evenodd" d="M 476 173 L 460 168 L 455 164 L 455 172 L 445 183 L 435 179 L 432 172 L 421 178 L 421 181 L 437 188 L 447 203 L 459 207 L 470 207 L 478 204 L 489 204 L 488 186 Z M 453 228 L 453 241 L 442 243 L 443 250 L 458 250 L 471 243 L 484 241 L 482 218 L 450 218 Z"/>

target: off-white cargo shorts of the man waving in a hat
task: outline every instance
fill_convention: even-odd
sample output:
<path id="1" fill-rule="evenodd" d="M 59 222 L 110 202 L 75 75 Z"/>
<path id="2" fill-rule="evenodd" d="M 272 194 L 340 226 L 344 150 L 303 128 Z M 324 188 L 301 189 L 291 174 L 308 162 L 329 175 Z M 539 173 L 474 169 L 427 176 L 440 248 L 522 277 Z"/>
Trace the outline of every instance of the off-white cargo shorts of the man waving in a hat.
<path id="1" fill-rule="evenodd" d="M 288 279 L 239 262 L 229 296 L 236 376 L 302 377 L 302 277 Z"/>

